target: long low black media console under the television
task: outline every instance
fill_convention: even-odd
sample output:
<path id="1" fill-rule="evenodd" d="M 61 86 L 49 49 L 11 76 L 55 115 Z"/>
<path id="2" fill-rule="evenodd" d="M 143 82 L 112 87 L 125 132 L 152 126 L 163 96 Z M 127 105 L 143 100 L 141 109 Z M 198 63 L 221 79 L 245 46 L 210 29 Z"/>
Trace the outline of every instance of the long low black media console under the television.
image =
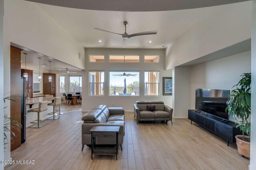
<path id="1" fill-rule="evenodd" d="M 215 117 L 213 115 L 199 112 L 197 110 L 188 110 L 188 119 L 197 123 L 204 129 L 218 135 L 219 137 L 226 139 L 231 143 L 236 143 L 236 135 L 242 135 L 240 128 L 236 128 L 236 124 L 233 121 L 223 121 L 223 119 Z"/>

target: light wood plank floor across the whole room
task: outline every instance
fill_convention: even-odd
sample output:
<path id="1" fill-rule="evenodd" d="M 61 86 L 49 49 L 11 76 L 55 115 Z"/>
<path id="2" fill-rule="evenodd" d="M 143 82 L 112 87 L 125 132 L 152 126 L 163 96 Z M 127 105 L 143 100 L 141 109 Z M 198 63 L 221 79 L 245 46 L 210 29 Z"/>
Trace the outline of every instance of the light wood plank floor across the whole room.
<path id="1" fill-rule="evenodd" d="M 81 151 L 81 117 L 75 106 L 62 106 L 69 112 L 40 129 L 27 129 L 26 142 L 13 152 L 12 160 L 35 160 L 34 165 L 8 165 L 6 170 L 88 169 L 220 169 L 248 170 L 249 160 L 242 158 L 226 141 L 190 124 L 188 119 L 168 123 L 139 123 L 133 113 L 125 113 L 123 151 L 115 156 L 94 156 L 90 148 Z M 63 110 L 62 110 L 63 111 Z"/>

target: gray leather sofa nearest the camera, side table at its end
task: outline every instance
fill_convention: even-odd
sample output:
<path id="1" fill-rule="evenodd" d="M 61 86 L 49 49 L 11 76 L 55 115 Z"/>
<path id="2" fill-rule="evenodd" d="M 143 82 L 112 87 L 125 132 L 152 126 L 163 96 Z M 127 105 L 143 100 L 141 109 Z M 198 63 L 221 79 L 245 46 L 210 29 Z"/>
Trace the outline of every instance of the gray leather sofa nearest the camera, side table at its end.
<path id="1" fill-rule="evenodd" d="M 124 109 L 108 109 L 105 105 L 99 105 L 86 113 L 82 120 L 82 150 L 84 145 L 91 146 L 91 132 L 93 126 L 120 126 L 118 132 L 118 145 L 122 150 L 124 141 Z M 96 137 L 96 145 L 114 145 L 116 139 L 109 137 Z"/>

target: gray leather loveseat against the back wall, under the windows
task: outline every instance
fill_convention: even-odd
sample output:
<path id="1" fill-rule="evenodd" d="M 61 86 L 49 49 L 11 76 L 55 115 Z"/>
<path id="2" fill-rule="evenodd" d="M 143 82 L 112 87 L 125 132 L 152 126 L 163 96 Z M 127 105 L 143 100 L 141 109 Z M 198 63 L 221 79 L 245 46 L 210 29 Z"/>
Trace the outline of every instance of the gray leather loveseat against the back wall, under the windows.
<path id="1" fill-rule="evenodd" d="M 156 106 L 155 111 L 148 111 L 147 106 Z M 173 109 L 162 101 L 137 101 L 134 104 L 134 117 L 139 121 L 171 121 Z"/>

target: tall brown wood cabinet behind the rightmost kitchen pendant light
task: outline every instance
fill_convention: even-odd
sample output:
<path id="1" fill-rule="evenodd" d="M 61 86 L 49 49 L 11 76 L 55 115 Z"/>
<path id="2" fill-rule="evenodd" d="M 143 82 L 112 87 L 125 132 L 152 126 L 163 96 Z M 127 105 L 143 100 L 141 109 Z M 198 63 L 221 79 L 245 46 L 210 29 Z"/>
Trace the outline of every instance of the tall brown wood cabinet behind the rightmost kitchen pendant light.
<path id="1" fill-rule="evenodd" d="M 49 76 L 52 76 L 52 82 L 49 82 Z M 56 96 L 56 74 L 43 73 L 43 94 Z"/>

